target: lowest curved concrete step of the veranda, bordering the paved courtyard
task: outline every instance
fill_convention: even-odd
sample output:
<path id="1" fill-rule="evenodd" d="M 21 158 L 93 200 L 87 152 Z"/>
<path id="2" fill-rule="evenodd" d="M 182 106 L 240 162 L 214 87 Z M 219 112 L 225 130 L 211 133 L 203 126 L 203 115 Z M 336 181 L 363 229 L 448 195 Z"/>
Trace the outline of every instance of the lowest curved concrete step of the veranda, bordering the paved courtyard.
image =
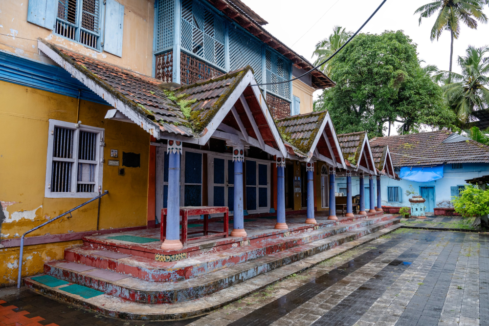
<path id="1" fill-rule="evenodd" d="M 284 280 L 292 274 L 301 273 L 324 260 L 340 255 L 361 244 L 378 239 L 380 236 L 399 228 L 401 224 L 398 224 L 398 222 L 399 220 L 393 220 L 387 223 L 382 223 L 384 226 L 386 226 L 385 228 L 358 239 L 356 239 L 356 237 L 360 234 L 356 232 L 349 232 L 350 241 L 342 244 L 337 243 L 337 245 L 330 250 L 322 251 L 301 261 L 295 261 L 285 266 L 275 268 L 270 272 L 260 274 L 252 279 L 248 279 L 237 284 L 233 284 L 207 296 L 201 295 L 198 299 L 178 302 L 175 304 L 139 303 L 120 297 L 115 297 L 110 294 L 102 294 L 85 299 L 62 290 L 64 286 L 69 284 L 49 287 L 32 280 L 31 277 L 25 278 L 24 282 L 26 286 L 44 295 L 56 298 L 63 302 L 92 309 L 110 317 L 134 320 L 169 320 L 190 318 L 219 309 L 236 300 L 258 292 L 273 283 Z M 394 224 L 387 226 L 391 223 Z M 321 240 L 321 242 L 324 241 L 326 241 L 326 239 Z M 312 248 L 310 249 L 312 250 Z"/>

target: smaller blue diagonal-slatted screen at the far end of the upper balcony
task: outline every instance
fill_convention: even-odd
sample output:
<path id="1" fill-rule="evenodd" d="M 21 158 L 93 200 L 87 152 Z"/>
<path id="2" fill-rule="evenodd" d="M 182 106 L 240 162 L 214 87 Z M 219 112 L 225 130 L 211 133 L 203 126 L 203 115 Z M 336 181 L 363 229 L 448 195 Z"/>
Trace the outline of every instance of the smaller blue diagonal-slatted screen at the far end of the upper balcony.
<path id="1" fill-rule="evenodd" d="M 292 66 L 271 50 L 265 51 L 267 83 L 280 83 L 291 78 Z M 290 83 L 267 85 L 267 91 L 283 98 L 290 98 Z"/>

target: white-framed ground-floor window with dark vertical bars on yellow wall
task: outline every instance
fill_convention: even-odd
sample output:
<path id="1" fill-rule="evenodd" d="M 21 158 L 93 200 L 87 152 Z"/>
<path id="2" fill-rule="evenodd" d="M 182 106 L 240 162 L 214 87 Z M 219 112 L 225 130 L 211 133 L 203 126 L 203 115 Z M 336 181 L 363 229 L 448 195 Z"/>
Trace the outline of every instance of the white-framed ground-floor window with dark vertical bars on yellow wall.
<path id="1" fill-rule="evenodd" d="M 102 181 L 100 128 L 49 120 L 45 196 L 92 197 Z"/>

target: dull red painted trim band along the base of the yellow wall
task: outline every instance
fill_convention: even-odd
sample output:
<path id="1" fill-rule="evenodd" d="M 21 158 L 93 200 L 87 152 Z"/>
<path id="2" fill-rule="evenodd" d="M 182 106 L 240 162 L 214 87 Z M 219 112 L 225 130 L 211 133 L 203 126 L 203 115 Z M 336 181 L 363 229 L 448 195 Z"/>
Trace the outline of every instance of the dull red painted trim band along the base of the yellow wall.
<path id="1" fill-rule="evenodd" d="M 44 244 L 44 243 L 53 243 L 53 242 L 81 240 L 83 237 L 88 237 L 88 236 L 92 236 L 95 234 L 127 232 L 127 231 L 135 231 L 135 230 L 142 230 L 142 229 L 146 229 L 146 225 L 134 226 L 134 227 L 128 227 L 128 228 L 120 228 L 120 229 L 84 231 L 84 232 L 51 234 L 51 235 L 47 235 L 47 236 L 27 237 L 24 239 L 24 245 L 29 246 L 29 245 L 34 245 L 34 244 Z M 1 245 L 4 248 L 19 247 L 21 245 L 21 239 L 17 238 L 17 239 L 1 240 Z"/>

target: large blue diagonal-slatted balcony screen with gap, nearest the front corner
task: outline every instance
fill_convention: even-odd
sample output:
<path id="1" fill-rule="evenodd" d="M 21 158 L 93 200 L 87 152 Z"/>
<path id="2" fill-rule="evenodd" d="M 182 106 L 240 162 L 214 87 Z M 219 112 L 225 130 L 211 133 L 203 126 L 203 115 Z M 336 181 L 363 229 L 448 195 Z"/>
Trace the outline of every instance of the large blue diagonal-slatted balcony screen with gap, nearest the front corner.
<path id="1" fill-rule="evenodd" d="M 163 14 L 166 14 L 164 11 Z M 161 31 L 169 33 L 170 31 Z M 173 33 L 173 31 L 172 31 Z M 161 35 L 161 39 L 166 36 Z M 205 61 L 226 68 L 224 21 L 196 0 L 181 2 L 181 48 Z M 163 42 L 165 43 L 165 42 Z M 159 45 L 159 44 L 158 44 Z M 164 45 L 167 45 L 166 43 Z"/>

